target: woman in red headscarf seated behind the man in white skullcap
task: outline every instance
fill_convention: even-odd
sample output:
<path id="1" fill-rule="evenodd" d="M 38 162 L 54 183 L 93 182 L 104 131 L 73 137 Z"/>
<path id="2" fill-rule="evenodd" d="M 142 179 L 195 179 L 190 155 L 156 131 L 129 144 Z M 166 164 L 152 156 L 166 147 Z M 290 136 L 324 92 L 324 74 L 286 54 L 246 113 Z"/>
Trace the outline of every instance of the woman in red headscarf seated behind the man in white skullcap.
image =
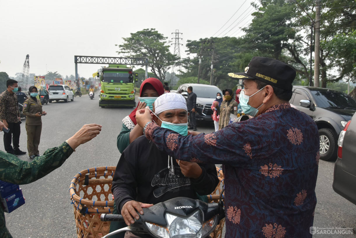
<path id="1" fill-rule="evenodd" d="M 163 85 L 161 81 L 156 78 L 148 78 L 144 80 L 140 87 L 140 97 L 158 97 L 164 93 Z M 146 103 L 142 100 L 138 103 L 137 107 L 122 120 L 122 129 L 120 134 L 117 136 L 117 148 L 120 153 L 126 149 L 129 144 L 134 141 L 137 137 L 142 136 L 142 129 L 136 123 L 136 111 L 145 108 Z"/>

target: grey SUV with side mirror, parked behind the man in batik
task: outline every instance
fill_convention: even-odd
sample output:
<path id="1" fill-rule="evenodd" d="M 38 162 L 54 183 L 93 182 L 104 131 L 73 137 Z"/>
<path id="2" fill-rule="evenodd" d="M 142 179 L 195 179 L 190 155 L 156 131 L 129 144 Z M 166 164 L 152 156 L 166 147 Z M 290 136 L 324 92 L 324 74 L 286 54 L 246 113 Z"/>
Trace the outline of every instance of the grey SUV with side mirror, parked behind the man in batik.
<path id="1" fill-rule="evenodd" d="M 356 101 L 333 89 L 293 86 L 289 102 L 313 118 L 319 129 L 320 159 L 337 158 L 337 137 L 356 111 Z"/>

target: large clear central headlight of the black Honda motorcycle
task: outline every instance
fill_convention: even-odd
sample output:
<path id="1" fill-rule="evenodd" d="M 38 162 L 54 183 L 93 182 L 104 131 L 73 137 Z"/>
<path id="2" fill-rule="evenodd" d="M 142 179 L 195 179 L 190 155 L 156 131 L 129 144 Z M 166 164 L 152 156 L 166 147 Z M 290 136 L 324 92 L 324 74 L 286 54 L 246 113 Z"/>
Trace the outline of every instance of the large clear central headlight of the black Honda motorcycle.
<path id="1" fill-rule="evenodd" d="M 192 216 L 182 218 L 166 213 L 168 231 L 172 238 L 201 238 L 202 224 L 201 215 L 197 211 Z"/>

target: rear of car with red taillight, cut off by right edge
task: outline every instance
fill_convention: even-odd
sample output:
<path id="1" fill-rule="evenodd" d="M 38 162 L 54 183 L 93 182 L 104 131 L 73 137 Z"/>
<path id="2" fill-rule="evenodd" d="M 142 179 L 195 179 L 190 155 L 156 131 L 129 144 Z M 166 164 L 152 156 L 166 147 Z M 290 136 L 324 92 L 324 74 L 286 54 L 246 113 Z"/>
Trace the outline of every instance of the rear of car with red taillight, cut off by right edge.
<path id="1" fill-rule="evenodd" d="M 346 123 L 337 142 L 333 189 L 356 204 L 356 114 Z"/>

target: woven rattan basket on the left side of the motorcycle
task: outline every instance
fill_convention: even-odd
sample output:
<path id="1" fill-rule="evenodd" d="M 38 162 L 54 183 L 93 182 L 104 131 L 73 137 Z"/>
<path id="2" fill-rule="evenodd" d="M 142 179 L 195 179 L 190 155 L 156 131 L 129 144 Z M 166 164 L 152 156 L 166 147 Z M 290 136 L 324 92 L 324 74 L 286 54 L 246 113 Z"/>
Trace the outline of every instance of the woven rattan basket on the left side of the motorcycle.
<path id="1" fill-rule="evenodd" d="M 101 238 L 109 233 L 110 222 L 100 221 L 101 213 L 112 213 L 111 183 L 116 167 L 80 171 L 70 183 L 78 238 Z"/>

